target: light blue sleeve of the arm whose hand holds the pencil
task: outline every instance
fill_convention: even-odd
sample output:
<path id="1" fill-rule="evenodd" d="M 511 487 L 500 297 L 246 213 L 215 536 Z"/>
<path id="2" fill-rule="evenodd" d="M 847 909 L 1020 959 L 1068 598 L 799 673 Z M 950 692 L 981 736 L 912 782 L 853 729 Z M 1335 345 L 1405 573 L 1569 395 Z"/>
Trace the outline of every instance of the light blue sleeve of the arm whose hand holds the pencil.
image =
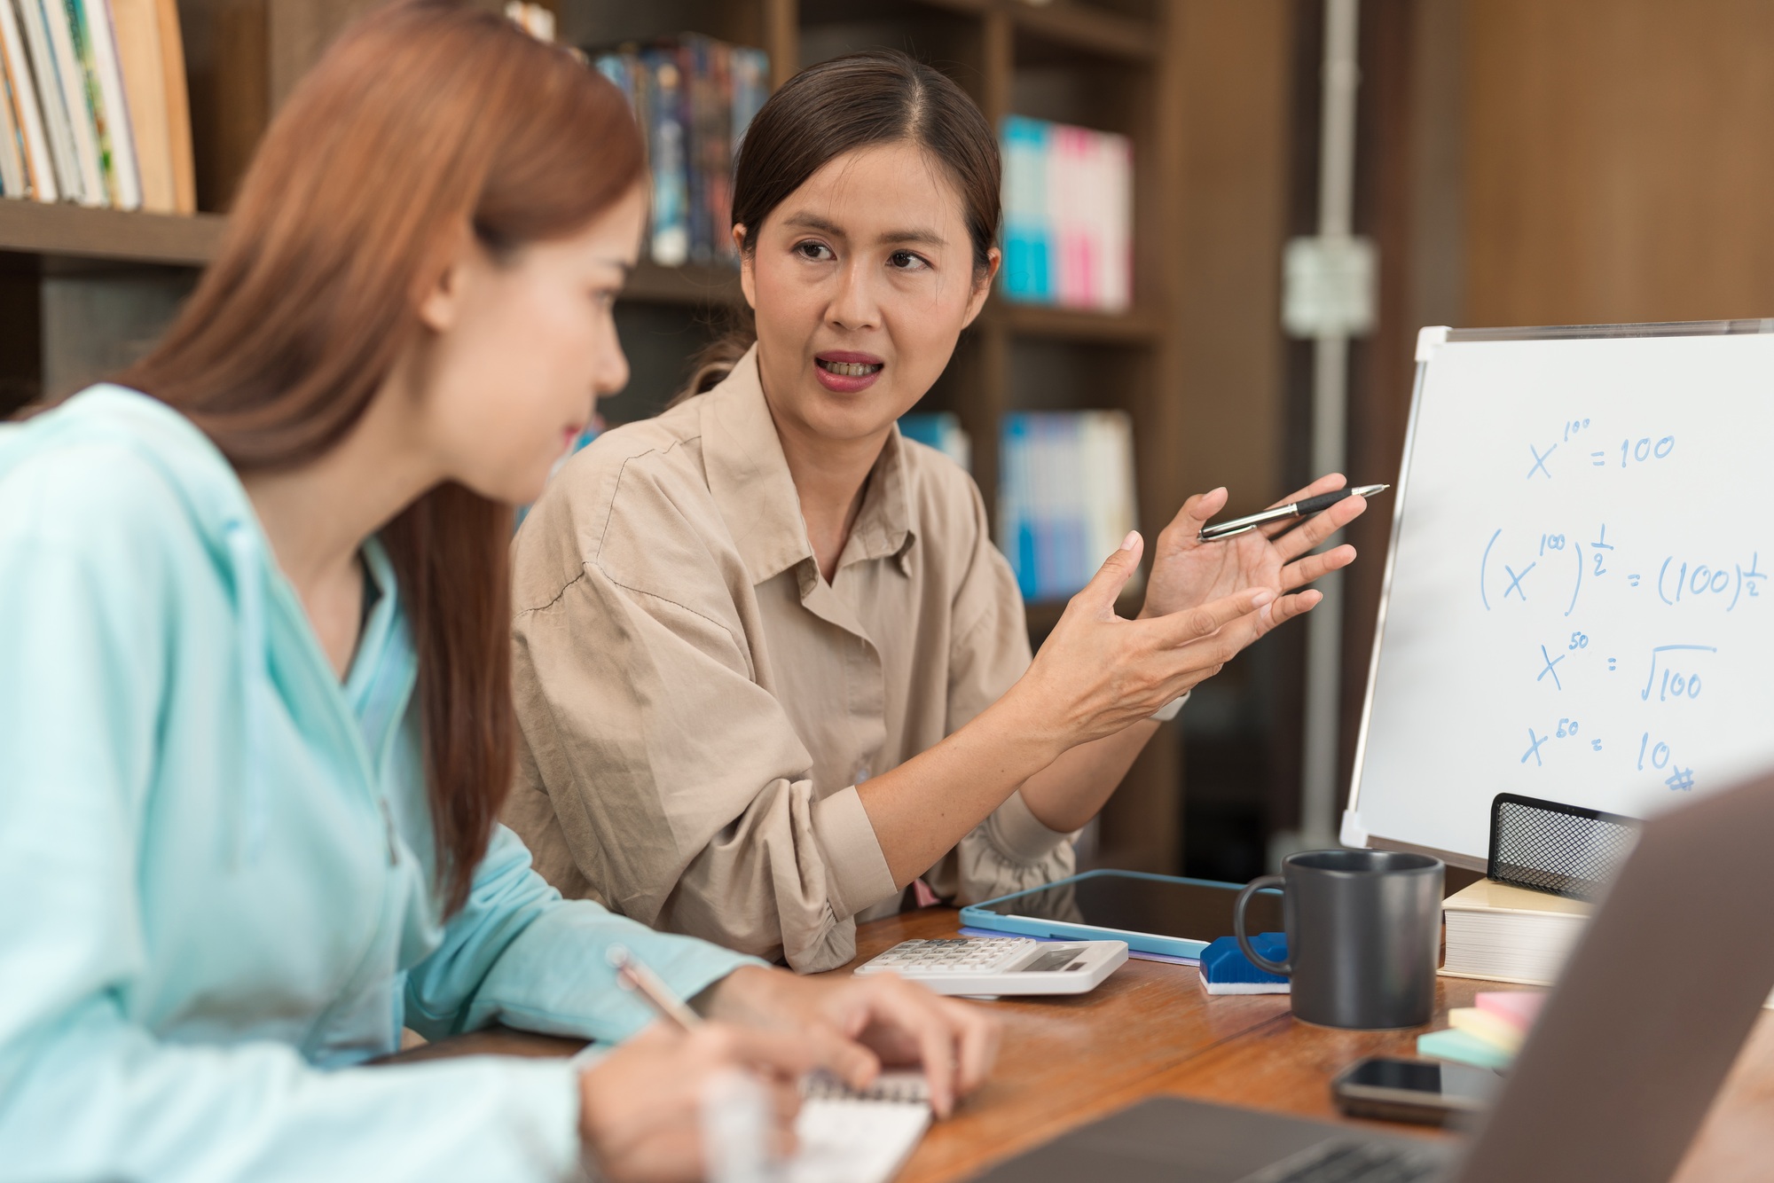
<path id="1" fill-rule="evenodd" d="M 573 1178 L 564 1061 L 328 1073 L 130 1020 L 179 507 L 128 493 L 0 479 L 0 1181 Z"/>

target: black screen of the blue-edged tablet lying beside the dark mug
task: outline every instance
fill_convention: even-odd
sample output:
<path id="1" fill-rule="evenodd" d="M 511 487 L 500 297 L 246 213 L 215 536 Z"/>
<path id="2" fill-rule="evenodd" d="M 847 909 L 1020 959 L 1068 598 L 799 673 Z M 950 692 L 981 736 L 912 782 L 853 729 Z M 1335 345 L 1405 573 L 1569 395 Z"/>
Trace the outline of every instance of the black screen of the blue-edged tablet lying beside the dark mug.
<path id="1" fill-rule="evenodd" d="M 1111 871 L 977 906 L 1001 915 L 1025 915 L 1123 933 L 1217 940 L 1231 936 L 1231 905 L 1236 897 L 1236 883 L 1148 880 Z M 1245 922 L 1251 935 L 1279 933 L 1281 894 L 1258 892 L 1245 910 Z"/>

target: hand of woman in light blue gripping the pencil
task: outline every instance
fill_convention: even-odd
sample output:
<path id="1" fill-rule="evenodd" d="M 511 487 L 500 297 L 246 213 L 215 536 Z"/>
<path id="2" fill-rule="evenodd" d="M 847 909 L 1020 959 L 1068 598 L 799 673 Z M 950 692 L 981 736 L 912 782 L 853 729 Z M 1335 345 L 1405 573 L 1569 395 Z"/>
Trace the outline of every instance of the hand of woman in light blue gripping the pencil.
<path id="1" fill-rule="evenodd" d="M 580 1139 L 610 1183 L 701 1179 L 703 1096 L 722 1073 L 747 1071 L 770 1100 L 766 1148 L 789 1155 L 798 1082 L 816 1062 L 812 1041 L 793 1030 L 655 1023 L 580 1075 Z"/>

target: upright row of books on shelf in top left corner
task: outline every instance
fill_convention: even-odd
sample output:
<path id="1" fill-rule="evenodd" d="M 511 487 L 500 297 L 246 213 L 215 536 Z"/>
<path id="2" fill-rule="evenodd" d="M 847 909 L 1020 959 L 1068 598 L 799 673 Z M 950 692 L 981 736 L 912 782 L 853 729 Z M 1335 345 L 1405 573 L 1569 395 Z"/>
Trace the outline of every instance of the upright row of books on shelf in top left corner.
<path id="1" fill-rule="evenodd" d="M 197 209 L 176 0 L 0 0 L 0 197 Z"/>

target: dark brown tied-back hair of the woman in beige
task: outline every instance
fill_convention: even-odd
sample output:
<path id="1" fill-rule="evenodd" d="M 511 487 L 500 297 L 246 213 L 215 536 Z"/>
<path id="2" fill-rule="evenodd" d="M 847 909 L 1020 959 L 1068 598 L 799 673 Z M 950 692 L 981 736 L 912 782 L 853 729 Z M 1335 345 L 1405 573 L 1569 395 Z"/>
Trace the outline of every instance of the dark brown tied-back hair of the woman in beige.
<path id="1" fill-rule="evenodd" d="M 967 92 L 898 50 L 866 50 L 800 71 L 770 96 L 740 144 L 733 225 L 754 250 L 757 227 L 827 163 L 859 147 L 915 144 L 942 165 L 962 197 L 974 271 L 990 264 L 999 229 L 999 151 L 992 124 Z M 750 316 L 695 356 L 672 403 L 708 390 L 757 339 Z"/>

